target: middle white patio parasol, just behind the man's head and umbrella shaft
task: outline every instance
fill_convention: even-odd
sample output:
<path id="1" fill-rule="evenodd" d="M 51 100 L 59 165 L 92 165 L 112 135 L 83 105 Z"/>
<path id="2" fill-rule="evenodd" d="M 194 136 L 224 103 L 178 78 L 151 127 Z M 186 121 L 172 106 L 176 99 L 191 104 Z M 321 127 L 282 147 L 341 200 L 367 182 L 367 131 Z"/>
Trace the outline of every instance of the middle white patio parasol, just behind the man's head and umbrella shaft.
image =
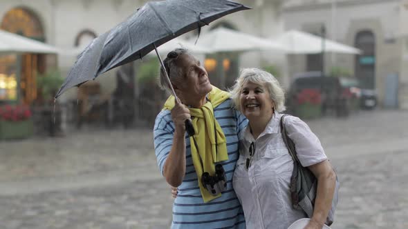
<path id="1" fill-rule="evenodd" d="M 195 39 L 189 41 L 193 42 Z M 198 39 L 197 44 L 210 48 L 214 52 L 285 50 L 283 45 L 275 41 L 223 27 L 215 28 L 203 34 Z"/>

